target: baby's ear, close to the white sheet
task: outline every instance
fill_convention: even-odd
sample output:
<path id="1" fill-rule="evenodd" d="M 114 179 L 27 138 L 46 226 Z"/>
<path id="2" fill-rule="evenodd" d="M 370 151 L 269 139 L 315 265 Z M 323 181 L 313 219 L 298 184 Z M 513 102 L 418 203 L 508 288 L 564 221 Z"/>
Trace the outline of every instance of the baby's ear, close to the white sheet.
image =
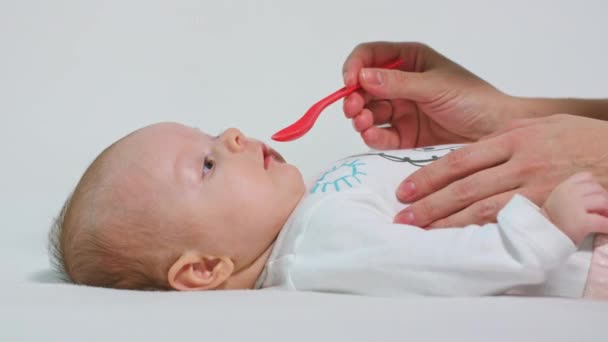
<path id="1" fill-rule="evenodd" d="M 177 259 L 167 274 L 175 290 L 214 290 L 234 272 L 234 263 L 228 257 L 214 257 L 186 252 Z"/>

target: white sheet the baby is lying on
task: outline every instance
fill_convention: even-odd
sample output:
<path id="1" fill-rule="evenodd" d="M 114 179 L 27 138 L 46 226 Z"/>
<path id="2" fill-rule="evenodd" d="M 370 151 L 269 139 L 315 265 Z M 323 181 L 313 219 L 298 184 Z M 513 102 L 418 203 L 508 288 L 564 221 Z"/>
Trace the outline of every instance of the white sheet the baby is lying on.
<path id="1" fill-rule="evenodd" d="M 604 303 L 564 299 L 162 293 L 52 283 L 4 291 L 0 302 L 0 341 L 606 341 L 608 320 Z"/>

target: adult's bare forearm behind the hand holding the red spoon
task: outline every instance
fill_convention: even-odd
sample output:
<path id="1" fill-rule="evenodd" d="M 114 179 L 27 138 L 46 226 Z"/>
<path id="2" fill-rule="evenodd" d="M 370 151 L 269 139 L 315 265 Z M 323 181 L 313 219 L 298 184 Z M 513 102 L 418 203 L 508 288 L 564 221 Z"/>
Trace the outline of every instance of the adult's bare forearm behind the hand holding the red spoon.
<path id="1" fill-rule="evenodd" d="M 517 118 L 572 114 L 592 119 L 608 120 L 608 99 L 513 97 L 511 110 Z"/>

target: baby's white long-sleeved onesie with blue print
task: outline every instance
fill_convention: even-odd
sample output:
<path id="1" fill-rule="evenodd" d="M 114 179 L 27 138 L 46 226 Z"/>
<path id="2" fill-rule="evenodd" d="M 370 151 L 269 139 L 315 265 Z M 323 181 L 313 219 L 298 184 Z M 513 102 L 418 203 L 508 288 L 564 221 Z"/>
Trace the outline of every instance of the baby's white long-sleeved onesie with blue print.
<path id="1" fill-rule="evenodd" d="M 456 149 L 369 152 L 307 185 L 256 288 L 374 296 L 581 297 L 591 252 L 516 195 L 498 224 L 423 230 L 394 224 L 406 176 Z M 589 243 L 587 242 L 587 245 Z"/>

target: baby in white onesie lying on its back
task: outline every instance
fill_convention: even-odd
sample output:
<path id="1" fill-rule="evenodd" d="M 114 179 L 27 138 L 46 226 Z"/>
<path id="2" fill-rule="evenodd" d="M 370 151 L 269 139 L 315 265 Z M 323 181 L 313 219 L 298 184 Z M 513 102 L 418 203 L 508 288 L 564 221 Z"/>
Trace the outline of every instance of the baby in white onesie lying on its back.
<path id="1" fill-rule="evenodd" d="M 515 195 L 497 224 L 427 231 L 392 222 L 404 207 L 397 184 L 455 148 L 352 156 L 306 185 L 296 167 L 236 129 L 210 136 L 151 125 L 86 170 L 50 233 L 55 264 L 74 283 L 124 289 L 588 291 L 583 240 L 608 232 L 608 193 L 590 174 L 564 181 L 542 208 Z"/>

